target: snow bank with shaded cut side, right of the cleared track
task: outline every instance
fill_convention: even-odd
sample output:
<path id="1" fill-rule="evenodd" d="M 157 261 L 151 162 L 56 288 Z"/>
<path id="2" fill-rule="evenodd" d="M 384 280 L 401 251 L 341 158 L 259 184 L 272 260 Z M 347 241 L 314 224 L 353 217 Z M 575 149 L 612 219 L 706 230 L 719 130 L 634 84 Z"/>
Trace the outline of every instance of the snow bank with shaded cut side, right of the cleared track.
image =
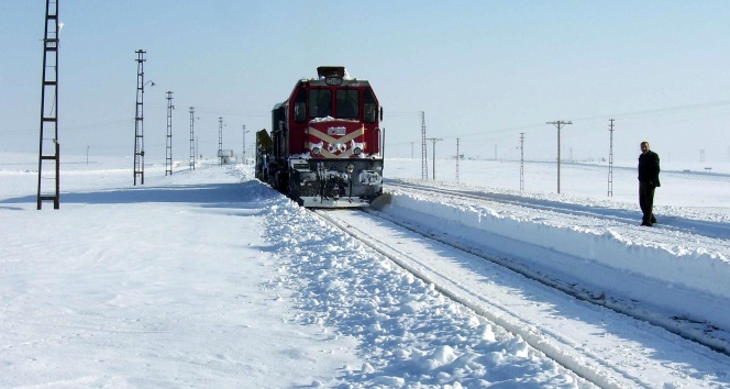
<path id="1" fill-rule="evenodd" d="M 728 249 L 708 246 L 711 241 L 678 231 L 662 231 L 668 238 L 653 241 L 659 227 L 522 212 L 498 203 L 454 203 L 398 190 L 389 196 L 383 209 L 388 214 L 435 232 L 456 231 L 467 246 L 488 247 L 535 271 L 563 275 L 566 282 L 623 292 L 627 300 L 730 325 L 728 314 L 706 303 L 730 299 Z"/>

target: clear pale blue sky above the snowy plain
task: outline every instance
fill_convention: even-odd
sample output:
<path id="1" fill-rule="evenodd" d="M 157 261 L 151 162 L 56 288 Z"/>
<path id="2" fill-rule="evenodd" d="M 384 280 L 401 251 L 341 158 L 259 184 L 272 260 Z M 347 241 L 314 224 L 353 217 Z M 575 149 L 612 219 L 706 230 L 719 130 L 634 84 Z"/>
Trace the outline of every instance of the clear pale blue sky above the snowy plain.
<path id="1" fill-rule="evenodd" d="M 37 153 L 44 0 L 0 0 L 0 151 Z M 319 65 L 368 79 L 385 108 L 386 154 L 420 156 L 420 112 L 436 156 L 608 157 L 639 142 L 672 160 L 730 159 L 730 1 L 60 0 L 62 154 L 132 155 L 136 49 L 147 52 L 147 160 L 240 153 L 242 125 Z M 412 146 L 413 145 L 413 146 Z M 429 145 L 429 154 L 431 148 Z"/>

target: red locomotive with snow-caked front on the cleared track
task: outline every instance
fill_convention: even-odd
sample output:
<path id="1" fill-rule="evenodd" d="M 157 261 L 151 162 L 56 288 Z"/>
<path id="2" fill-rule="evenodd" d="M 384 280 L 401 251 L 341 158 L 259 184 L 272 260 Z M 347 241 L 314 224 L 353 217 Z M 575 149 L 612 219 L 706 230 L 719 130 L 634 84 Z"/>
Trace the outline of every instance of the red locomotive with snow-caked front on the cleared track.
<path id="1" fill-rule="evenodd" d="M 368 207 L 383 193 L 385 130 L 369 81 L 320 66 L 256 133 L 255 175 L 306 208 Z"/>

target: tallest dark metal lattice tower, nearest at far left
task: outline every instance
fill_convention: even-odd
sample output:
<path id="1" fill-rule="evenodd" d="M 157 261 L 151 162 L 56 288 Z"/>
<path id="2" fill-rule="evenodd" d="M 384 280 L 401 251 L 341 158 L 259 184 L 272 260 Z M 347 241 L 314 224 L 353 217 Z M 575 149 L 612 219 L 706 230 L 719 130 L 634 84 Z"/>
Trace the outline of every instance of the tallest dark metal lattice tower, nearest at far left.
<path id="1" fill-rule="evenodd" d="M 43 38 L 43 81 L 41 87 L 41 134 L 38 146 L 38 196 L 37 209 L 43 200 L 53 200 L 53 208 L 59 209 L 60 146 L 58 143 L 58 0 L 46 1 L 45 36 Z M 51 137 L 53 136 L 53 137 Z M 44 162 L 54 165 L 54 194 L 43 189 Z"/>

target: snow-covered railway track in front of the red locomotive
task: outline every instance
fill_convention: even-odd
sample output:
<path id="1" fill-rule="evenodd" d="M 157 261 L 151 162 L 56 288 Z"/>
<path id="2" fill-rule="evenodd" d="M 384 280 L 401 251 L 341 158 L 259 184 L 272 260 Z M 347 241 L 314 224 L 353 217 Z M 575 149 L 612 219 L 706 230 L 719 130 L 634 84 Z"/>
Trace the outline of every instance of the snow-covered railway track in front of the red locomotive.
<path id="1" fill-rule="evenodd" d="M 443 194 L 461 196 L 449 192 Z M 483 199 L 482 196 L 474 197 Z M 509 258 L 461 244 L 441 231 L 396 221 L 375 210 L 318 210 L 316 213 L 416 277 L 432 284 L 453 301 L 520 335 L 535 349 L 598 387 L 654 387 L 656 384 L 652 377 L 672 375 L 672 371 L 642 351 L 654 348 L 653 344 L 661 349 L 686 347 L 686 343 L 698 341 L 692 333 L 676 331 L 668 322 L 654 320 L 653 326 L 648 327 L 646 318 L 632 311 L 630 304 L 590 290 L 575 289 L 575 285 L 533 271 Z M 419 243 L 414 245 L 412 242 Z M 555 307 L 560 307 L 560 313 Z M 610 332 L 597 324 L 616 325 L 619 314 L 633 319 L 618 320 L 621 329 Z M 585 316 L 606 319 L 599 322 L 575 319 Z M 605 347 L 605 337 L 616 333 L 640 333 L 642 342 L 617 336 L 616 349 L 621 352 L 607 356 L 600 348 Z M 707 346 L 728 354 L 727 345 Z M 627 349 L 635 353 L 626 353 Z M 707 349 L 707 353 L 712 352 Z M 645 374 L 637 376 L 622 368 L 633 364 L 645 366 Z"/>

